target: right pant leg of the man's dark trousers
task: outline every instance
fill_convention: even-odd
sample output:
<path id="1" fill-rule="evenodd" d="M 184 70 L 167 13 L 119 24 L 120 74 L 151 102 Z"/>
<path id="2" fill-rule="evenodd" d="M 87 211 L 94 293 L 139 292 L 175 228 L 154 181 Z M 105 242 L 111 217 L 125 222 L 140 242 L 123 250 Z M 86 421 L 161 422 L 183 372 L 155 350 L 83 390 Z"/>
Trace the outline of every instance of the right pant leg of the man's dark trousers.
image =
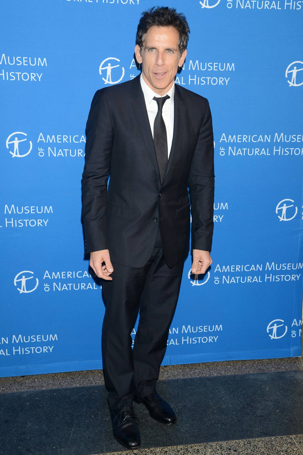
<path id="1" fill-rule="evenodd" d="M 161 246 L 146 276 L 133 349 L 133 382 L 136 394 L 141 398 L 156 388 L 178 302 L 183 268 L 184 260 L 169 268 Z"/>

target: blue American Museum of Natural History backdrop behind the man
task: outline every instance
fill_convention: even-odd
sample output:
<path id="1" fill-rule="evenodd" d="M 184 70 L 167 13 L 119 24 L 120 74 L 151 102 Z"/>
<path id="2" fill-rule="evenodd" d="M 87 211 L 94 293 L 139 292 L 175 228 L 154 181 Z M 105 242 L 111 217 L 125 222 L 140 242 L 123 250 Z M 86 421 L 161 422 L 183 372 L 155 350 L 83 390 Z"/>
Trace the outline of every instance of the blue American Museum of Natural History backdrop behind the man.
<path id="1" fill-rule="evenodd" d="M 2 377 L 102 368 L 85 124 L 97 89 L 139 74 L 136 29 L 154 5 L 1 1 Z M 191 29 L 176 83 L 212 111 L 215 202 L 214 262 L 202 277 L 186 259 L 163 364 L 301 356 L 303 1 L 166 5 Z"/>

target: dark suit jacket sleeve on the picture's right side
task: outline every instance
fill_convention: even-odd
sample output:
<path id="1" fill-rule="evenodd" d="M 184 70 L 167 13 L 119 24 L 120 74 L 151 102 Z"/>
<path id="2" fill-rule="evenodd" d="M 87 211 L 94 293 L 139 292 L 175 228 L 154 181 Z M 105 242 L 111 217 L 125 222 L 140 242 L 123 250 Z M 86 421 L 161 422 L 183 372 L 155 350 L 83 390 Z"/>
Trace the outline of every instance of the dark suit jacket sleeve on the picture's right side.
<path id="1" fill-rule="evenodd" d="M 214 135 L 209 101 L 189 168 L 192 249 L 211 251 L 214 231 Z"/>

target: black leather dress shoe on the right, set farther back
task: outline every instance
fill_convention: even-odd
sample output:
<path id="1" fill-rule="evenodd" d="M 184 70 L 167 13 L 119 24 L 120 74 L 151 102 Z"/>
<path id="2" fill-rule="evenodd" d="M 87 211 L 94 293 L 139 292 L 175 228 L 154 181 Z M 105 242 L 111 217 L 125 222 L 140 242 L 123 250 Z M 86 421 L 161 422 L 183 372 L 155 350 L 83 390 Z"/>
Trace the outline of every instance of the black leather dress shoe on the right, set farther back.
<path id="1" fill-rule="evenodd" d="M 143 403 L 149 410 L 150 417 L 162 422 L 163 424 L 171 425 L 177 422 L 177 417 L 174 411 L 171 409 L 169 404 L 157 394 L 157 392 L 147 395 L 142 399 L 139 399 L 135 395 L 134 401 L 136 403 Z"/>

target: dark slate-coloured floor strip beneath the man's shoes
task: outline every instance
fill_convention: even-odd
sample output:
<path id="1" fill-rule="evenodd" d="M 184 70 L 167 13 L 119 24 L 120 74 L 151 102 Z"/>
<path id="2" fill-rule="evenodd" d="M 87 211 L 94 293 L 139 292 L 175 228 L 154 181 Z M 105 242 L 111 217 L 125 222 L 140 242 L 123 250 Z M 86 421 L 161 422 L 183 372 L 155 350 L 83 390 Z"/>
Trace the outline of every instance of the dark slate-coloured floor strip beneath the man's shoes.
<path id="1" fill-rule="evenodd" d="M 167 379 L 157 391 L 178 422 L 161 424 L 134 404 L 142 449 L 303 433 L 303 371 Z M 103 385 L 0 394 L 0 410 L 1 455 L 123 450 Z"/>

